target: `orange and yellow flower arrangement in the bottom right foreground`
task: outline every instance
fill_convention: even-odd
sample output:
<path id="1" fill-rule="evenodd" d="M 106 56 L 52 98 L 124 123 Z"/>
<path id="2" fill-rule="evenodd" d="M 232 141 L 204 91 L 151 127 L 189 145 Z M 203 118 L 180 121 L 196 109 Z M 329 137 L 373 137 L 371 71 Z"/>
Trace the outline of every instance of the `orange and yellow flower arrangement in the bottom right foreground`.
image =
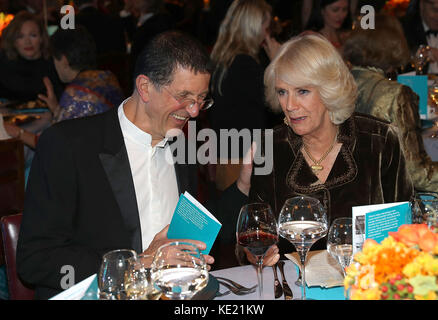
<path id="1" fill-rule="evenodd" d="M 381 244 L 368 239 L 346 272 L 350 299 L 438 299 L 438 234 L 411 224 Z"/>

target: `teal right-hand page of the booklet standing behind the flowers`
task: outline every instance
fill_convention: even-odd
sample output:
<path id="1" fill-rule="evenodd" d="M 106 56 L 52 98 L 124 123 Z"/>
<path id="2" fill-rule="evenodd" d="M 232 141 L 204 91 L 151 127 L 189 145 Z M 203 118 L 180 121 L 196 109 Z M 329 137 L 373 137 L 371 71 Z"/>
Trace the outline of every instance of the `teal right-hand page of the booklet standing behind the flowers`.
<path id="1" fill-rule="evenodd" d="M 380 243 L 388 236 L 388 232 L 396 232 L 401 225 L 410 223 L 412 221 L 409 203 L 371 211 L 365 216 L 365 238 Z"/>

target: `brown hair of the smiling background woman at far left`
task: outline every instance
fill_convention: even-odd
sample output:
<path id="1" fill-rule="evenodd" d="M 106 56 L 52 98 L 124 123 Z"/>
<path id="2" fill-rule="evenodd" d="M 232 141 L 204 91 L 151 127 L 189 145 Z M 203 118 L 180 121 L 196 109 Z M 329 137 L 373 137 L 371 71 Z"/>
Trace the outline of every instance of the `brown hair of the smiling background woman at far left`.
<path id="1" fill-rule="evenodd" d="M 38 26 L 41 36 L 41 56 L 47 59 L 49 57 L 49 36 L 47 31 L 41 19 L 27 11 L 17 13 L 14 19 L 12 19 L 9 25 L 3 30 L 1 41 L 2 49 L 8 59 L 15 60 L 18 58 L 19 53 L 15 48 L 15 41 L 21 32 L 21 27 L 27 21 L 33 21 Z"/>

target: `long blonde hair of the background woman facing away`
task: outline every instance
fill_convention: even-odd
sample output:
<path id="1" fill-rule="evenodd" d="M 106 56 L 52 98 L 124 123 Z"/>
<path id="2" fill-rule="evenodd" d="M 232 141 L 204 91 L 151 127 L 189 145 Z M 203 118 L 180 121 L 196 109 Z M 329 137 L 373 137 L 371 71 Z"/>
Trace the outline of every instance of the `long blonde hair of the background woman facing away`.
<path id="1" fill-rule="evenodd" d="M 262 24 L 270 18 L 271 6 L 264 0 L 234 0 L 219 27 L 219 35 L 211 52 L 215 64 L 212 89 L 220 87 L 227 69 L 238 54 L 258 61 L 265 30 Z"/>

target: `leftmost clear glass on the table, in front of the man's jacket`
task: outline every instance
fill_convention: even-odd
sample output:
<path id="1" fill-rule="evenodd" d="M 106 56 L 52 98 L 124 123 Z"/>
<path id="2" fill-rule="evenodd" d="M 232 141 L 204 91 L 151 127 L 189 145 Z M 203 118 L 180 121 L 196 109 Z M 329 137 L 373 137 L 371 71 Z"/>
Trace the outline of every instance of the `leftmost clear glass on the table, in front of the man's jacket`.
<path id="1" fill-rule="evenodd" d="M 99 299 L 126 298 L 125 271 L 128 268 L 128 260 L 136 257 L 137 253 L 130 249 L 118 249 L 104 254 L 98 276 Z"/>

